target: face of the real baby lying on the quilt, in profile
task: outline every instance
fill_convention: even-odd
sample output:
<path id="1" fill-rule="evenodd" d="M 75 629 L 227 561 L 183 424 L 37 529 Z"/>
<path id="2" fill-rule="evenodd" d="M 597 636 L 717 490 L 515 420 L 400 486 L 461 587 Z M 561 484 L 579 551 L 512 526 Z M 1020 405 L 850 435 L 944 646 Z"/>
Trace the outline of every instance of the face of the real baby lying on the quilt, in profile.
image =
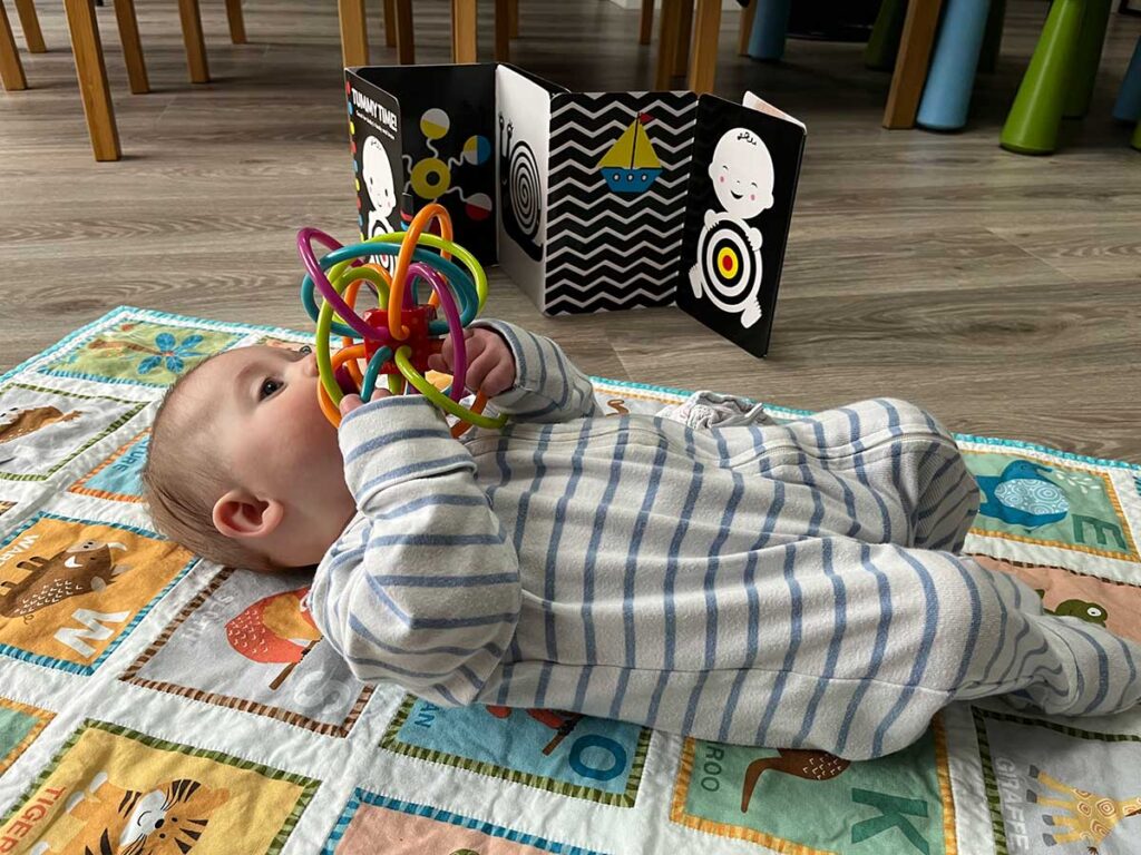
<path id="1" fill-rule="evenodd" d="M 193 381 L 183 392 L 212 429 L 234 486 L 281 502 L 297 563 L 316 563 L 356 507 L 337 429 L 317 404 L 315 357 L 238 348 L 205 363 Z"/>

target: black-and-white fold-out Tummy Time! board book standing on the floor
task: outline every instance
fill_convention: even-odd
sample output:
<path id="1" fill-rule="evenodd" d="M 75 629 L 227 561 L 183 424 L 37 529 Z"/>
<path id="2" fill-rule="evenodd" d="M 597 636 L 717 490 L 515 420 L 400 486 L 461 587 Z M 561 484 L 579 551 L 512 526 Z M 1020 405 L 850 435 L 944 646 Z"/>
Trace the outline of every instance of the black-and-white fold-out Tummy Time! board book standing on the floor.
<path id="1" fill-rule="evenodd" d="M 438 202 L 547 315 L 677 304 L 764 356 L 801 122 L 751 92 L 572 92 L 502 63 L 345 74 L 362 236 Z"/>

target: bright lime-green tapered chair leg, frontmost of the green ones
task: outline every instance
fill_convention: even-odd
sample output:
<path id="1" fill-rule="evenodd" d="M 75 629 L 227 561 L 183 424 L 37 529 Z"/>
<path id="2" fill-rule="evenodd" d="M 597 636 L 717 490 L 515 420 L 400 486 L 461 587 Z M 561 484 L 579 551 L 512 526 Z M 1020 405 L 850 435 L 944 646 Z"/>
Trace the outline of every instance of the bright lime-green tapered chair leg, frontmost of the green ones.
<path id="1" fill-rule="evenodd" d="M 1066 104 L 1086 0 L 1054 0 L 1003 125 L 1002 147 L 1019 154 L 1050 154 Z"/>

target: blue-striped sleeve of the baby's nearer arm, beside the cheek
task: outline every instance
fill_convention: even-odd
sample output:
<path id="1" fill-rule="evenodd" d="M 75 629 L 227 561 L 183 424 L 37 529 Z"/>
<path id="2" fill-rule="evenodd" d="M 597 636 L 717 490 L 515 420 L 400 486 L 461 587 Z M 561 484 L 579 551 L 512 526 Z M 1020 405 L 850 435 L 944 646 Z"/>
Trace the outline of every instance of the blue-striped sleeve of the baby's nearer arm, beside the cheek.
<path id="1" fill-rule="evenodd" d="M 419 396 L 354 410 L 340 443 L 361 515 L 317 568 L 314 620 L 359 679 L 472 702 L 515 634 L 520 587 L 471 455 Z"/>

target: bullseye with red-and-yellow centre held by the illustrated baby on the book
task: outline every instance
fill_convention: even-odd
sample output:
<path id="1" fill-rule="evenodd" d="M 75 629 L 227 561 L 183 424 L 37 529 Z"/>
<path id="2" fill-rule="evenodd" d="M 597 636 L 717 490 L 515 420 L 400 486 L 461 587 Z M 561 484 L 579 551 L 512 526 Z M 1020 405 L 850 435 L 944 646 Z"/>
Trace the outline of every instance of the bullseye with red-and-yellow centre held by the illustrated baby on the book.
<path id="1" fill-rule="evenodd" d="M 761 259 L 748 243 L 747 229 L 730 219 L 718 219 L 703 229 L 697 244 L 699 270 L 695 271 L 704 295 L 722 311 L 741 314 L 746 327 L 761 317 L 762 278 Z"/>

